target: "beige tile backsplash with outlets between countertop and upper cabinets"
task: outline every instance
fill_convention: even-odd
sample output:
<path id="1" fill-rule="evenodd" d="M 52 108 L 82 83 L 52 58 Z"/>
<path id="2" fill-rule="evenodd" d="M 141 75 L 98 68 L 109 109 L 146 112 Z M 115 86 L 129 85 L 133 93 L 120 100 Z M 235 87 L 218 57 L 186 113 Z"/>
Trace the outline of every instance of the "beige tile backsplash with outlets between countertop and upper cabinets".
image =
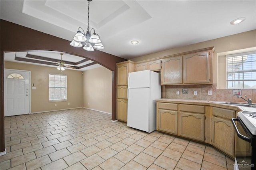
<path id="1" fill-rule="evenodd" d="M 168 85 L 165 86 L 165 98 L 246 102 L 237 96 L 233 96 L 232 89 L 217 89 L 216 87 L 216 84 Z M 188 94 L 182 94 L 182 89 L 188 89 Z M 179 95 L 176 95 L 177 90 Z M 208 90 L 212 91 L 212 95 L 208 95 Z M 194 91 L 197 91 L 197 95 L 194 95 Z M 256 103 L 256 89 L 242 89 L 242 97 L 245 95 L 252 99 L 252 103 Z"/>

